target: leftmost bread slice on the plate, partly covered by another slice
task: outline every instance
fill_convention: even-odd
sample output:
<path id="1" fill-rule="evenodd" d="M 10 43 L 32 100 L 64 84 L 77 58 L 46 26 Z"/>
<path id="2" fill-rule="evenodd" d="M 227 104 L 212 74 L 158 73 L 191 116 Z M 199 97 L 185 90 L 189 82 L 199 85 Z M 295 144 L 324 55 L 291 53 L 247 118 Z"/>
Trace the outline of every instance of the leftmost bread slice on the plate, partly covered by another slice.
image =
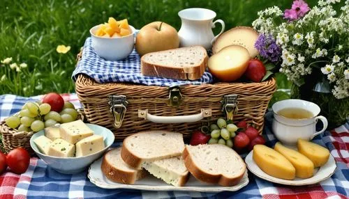
<path id="1" fill-rule="evenodd" d="M 147 175 L 145 170 L 137 170 L 128 166 L 121 159 L 121 147 L 108 151 L 102 161 L 101 169 L 107 179 L 123 184 L 135 184 Z"/>

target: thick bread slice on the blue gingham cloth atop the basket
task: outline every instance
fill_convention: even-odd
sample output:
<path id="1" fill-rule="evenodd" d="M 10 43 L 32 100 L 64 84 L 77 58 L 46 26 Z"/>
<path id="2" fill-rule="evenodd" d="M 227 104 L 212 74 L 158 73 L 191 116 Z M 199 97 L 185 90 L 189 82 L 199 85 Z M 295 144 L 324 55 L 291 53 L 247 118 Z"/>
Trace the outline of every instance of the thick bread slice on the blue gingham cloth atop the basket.
<path id="1" fill-rule="evenodd" d="M 208 58 L 201 46 L 157 51 L 142 56 L 140 69 L 145 76 L 195 80 L 204 74 Z"/>

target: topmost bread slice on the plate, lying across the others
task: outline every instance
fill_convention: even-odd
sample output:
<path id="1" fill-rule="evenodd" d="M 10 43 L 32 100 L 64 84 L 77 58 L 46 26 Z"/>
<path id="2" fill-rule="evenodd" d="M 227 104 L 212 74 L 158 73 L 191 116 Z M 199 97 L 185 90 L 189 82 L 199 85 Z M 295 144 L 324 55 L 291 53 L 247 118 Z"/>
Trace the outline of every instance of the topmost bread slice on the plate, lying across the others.
<path id="1" fill-rule="evenodd" d="M 144 161 L 177 157 L 183 150 L 182 134 L 165 131 L 140 132 L 124 139 L 121 158 L 129 166 L 140 169 Z"/>

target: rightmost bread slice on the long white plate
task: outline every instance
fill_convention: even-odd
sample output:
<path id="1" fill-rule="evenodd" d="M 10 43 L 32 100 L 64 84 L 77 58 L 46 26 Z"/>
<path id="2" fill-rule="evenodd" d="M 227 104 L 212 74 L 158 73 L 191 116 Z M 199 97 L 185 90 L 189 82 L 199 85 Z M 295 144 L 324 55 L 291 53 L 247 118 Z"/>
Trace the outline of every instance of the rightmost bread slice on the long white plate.
<path id="1" fill-rule="evenodd" d="M 186 168 L 202 182 L 234 186 L 244 176 L 244 160 L 225 145 L 186 145 L 183 152 Z"/>

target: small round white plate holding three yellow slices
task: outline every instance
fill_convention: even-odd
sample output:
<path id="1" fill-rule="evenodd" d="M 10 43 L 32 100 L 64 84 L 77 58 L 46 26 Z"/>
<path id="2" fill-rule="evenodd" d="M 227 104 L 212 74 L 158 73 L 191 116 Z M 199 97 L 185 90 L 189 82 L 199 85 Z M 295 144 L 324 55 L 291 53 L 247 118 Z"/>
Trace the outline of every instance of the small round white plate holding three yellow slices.
<path id="1" fill-rule="evenodd" d="M 321 166 L 320 168 L 315 168 L 315 174 L 313 177 L 309 177 L 306 179 L 298 178 L 296 177 L 295 180 L 283 180 L 277 177 L 272 177 L 271 175 L 268 175 L 267 173 L 264 173 L 257 164 L 255 164 L 255 161 L 253 161 L 253 150 L 246 156 L 245 162 L 248 170 L 251 171 L 254 175 L 257 175 L 258 177 L 267 180 L 269 182 L 274 182 L 277 184 L 285 184 L 285 185 L 292 185 L 292 186 L 303 186 L 303 185 L 309 185 L 309 184 L 316 184 L 318 182 L 321 182 L 322 180 L 326 180 L 327 178 L 331 177 L 331 175 L 334 174 L 334 171 L 336 170 L 336 161 L 334 161 L 334 157 L 332 157 L 332 154 L 329 154 L 329 159 L 327 163 L 324 166 Z"/>

